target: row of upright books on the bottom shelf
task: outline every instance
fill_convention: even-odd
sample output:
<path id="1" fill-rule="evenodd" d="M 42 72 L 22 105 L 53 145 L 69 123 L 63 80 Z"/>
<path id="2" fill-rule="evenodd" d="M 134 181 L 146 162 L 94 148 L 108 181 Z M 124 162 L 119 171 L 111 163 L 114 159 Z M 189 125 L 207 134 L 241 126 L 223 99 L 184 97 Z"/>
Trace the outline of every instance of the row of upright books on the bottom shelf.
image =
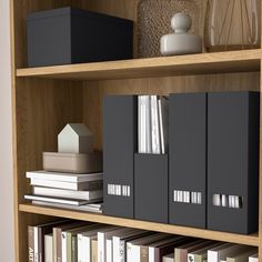
<path id="1" fill-rule="evenodd" d="M 30 262 L 256 262 L 258 249 L 130 228 L 59 221 L 28 226 Z"/>

